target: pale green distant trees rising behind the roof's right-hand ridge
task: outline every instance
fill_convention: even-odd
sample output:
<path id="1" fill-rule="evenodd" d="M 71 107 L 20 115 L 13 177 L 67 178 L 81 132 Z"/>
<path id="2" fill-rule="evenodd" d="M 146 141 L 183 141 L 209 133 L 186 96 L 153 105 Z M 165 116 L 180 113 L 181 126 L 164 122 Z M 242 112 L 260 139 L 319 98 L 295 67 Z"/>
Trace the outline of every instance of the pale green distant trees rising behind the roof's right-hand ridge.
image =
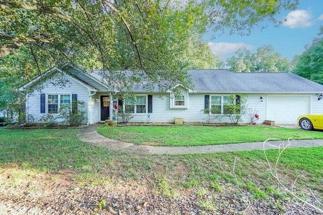
<path id="1" fill-rule="evenodd" d="M 257 53 L 239 49 L 236 56 L 227 60 L 227 65 L 234 72 L 289 72 L 291 65 L 287 58 L 274 52 L 272 45 L 263 45 Z"/>

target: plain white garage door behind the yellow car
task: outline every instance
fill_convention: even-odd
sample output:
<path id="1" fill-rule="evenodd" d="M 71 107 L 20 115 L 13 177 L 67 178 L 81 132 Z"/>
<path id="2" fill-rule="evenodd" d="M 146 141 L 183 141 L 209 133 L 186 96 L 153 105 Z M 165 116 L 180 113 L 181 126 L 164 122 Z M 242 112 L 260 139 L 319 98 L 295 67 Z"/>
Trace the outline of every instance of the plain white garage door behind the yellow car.
<path id="1" fill-rule="evenodd" d="M 310 96 L 267 96 L 267 120 L 277 124 L 296 124 L 297 117 L 310 113 Z"/>

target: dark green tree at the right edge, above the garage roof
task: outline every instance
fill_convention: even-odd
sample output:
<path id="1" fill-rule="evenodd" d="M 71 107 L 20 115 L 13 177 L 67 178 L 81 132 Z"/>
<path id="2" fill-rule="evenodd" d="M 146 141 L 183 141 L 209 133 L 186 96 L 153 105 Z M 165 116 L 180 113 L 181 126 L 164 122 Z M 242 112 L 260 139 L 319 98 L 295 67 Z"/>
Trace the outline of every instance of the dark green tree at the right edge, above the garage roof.
<path id="1" fill-rule="evenodd" d="M 323 34 L 323 26 L 320 28 Z M 312 44 L 298 57 L 293 73 L 323 84 L 323 38 L 314 39 Z"/>

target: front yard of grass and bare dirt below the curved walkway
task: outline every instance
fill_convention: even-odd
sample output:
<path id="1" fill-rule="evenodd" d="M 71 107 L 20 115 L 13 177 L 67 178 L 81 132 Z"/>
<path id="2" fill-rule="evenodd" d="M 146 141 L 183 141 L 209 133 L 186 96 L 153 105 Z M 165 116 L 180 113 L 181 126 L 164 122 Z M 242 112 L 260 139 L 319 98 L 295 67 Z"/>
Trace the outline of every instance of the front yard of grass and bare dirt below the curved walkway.
<path id="1" fill-rule="evenodd" d="M 296 196 L 323 208 L 323 147 L 286 149 L 276 169 L 280 151 L 267 150 L 272 169 L 263 151 L 151 155 L 95 147 L 77 133 L 0 128 L 0 211 L 112 214 L 111 207 L 122 214 L 321 214 L 278 186 L 271 170 Z M 322 134 L 306 132 L 314 133 Z"/>

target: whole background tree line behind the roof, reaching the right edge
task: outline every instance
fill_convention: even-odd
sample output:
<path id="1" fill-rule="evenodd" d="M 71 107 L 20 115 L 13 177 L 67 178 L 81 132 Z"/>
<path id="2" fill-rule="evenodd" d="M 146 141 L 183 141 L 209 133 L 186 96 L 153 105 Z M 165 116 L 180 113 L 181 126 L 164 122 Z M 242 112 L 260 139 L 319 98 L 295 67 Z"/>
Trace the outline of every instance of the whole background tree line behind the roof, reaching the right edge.
<path id="1" fill-rule="evenodd" d="M 300 56 L 294 56 L 291 61 L 276 53 L 273 46 L 263 45 L 256 53 L 238 50 L 226 65 L 233 72 L 292 72 L 323 84 L 323 27 L 320 27 L 318 35 L 312 44 L 305 46 Z"/>

